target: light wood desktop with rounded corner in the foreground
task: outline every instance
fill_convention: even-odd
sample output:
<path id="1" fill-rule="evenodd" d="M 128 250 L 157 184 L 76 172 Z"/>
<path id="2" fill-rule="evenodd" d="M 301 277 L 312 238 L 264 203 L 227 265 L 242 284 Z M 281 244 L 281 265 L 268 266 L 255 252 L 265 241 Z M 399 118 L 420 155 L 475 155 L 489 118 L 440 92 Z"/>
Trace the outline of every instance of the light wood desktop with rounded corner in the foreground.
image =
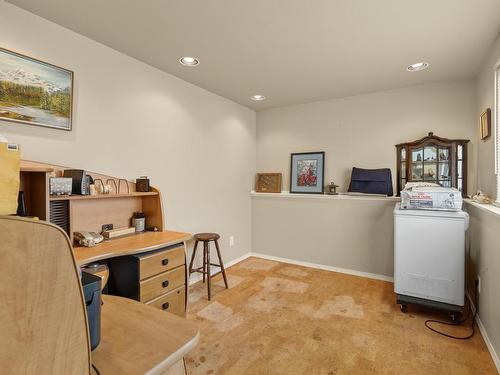
<path id="1" fill-rule="evenodd" d="M 101 375 L 183 374 L 183 357 L 199 341 L 194 322 L 142 303 L 102 296 L 101 342 L 92 363 Z"/>

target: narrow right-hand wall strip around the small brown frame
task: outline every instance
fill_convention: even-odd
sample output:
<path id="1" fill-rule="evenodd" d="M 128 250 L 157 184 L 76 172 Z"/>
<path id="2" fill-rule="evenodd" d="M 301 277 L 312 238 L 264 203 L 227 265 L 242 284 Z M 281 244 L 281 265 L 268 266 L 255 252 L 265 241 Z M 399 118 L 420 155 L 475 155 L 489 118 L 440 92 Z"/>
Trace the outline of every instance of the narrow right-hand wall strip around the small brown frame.
<path id="1" fill-rule="evenodd" d="M 479 73 L 476 81 L 477 108 L 476 118 L 486 109 L 491 108 L 492 120 L 494 120 L 494 68 L 500 60 L 500 36 L 491 46 L 491 53 L 486 59 L 483 69 Z M 479 120 L 476 120 L 476 139 L 477 139 L 477 187 L 490 197 L 496 195 L 496 177 L 495 177 L 495 141 L 494 136 L 481 141 L 479 139 Z M 493 133 L 492 123 L 492 133 Z"/>

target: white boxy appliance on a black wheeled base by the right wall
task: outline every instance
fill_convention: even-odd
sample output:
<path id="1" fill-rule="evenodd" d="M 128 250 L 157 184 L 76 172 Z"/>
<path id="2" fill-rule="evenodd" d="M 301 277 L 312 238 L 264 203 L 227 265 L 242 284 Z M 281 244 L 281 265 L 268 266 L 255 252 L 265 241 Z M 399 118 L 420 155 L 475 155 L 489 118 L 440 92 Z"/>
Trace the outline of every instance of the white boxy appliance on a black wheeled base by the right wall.
<path id="1" fill-rule="evenodd" d="M 401 310 L 420 304 L 460 312 L 469 215 L 399 206 L 394 208 L 394 291 Z"/>

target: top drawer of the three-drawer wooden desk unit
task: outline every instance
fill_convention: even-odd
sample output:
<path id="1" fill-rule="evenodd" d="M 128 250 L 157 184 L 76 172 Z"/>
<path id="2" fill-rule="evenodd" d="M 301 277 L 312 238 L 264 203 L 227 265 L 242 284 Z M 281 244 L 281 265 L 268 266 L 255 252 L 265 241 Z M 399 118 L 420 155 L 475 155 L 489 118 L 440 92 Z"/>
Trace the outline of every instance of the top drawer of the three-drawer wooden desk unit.
<path id="1" fill-rule="evenodd" d="M 184 246 L 141 254 L 137 257 L 140 280 L 177 268 L 185 263 Z"/>

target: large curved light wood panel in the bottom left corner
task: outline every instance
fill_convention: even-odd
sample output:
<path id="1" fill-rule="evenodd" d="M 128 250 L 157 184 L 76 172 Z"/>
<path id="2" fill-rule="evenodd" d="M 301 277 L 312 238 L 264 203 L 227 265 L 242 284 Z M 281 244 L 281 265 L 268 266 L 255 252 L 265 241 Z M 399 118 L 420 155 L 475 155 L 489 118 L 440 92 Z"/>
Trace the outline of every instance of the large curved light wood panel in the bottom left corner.
<path id="1" fill-rule="evenodd" d="M 0 216 L 0 372 L 90 374 L 83 291 L 68 236 Z"/>

